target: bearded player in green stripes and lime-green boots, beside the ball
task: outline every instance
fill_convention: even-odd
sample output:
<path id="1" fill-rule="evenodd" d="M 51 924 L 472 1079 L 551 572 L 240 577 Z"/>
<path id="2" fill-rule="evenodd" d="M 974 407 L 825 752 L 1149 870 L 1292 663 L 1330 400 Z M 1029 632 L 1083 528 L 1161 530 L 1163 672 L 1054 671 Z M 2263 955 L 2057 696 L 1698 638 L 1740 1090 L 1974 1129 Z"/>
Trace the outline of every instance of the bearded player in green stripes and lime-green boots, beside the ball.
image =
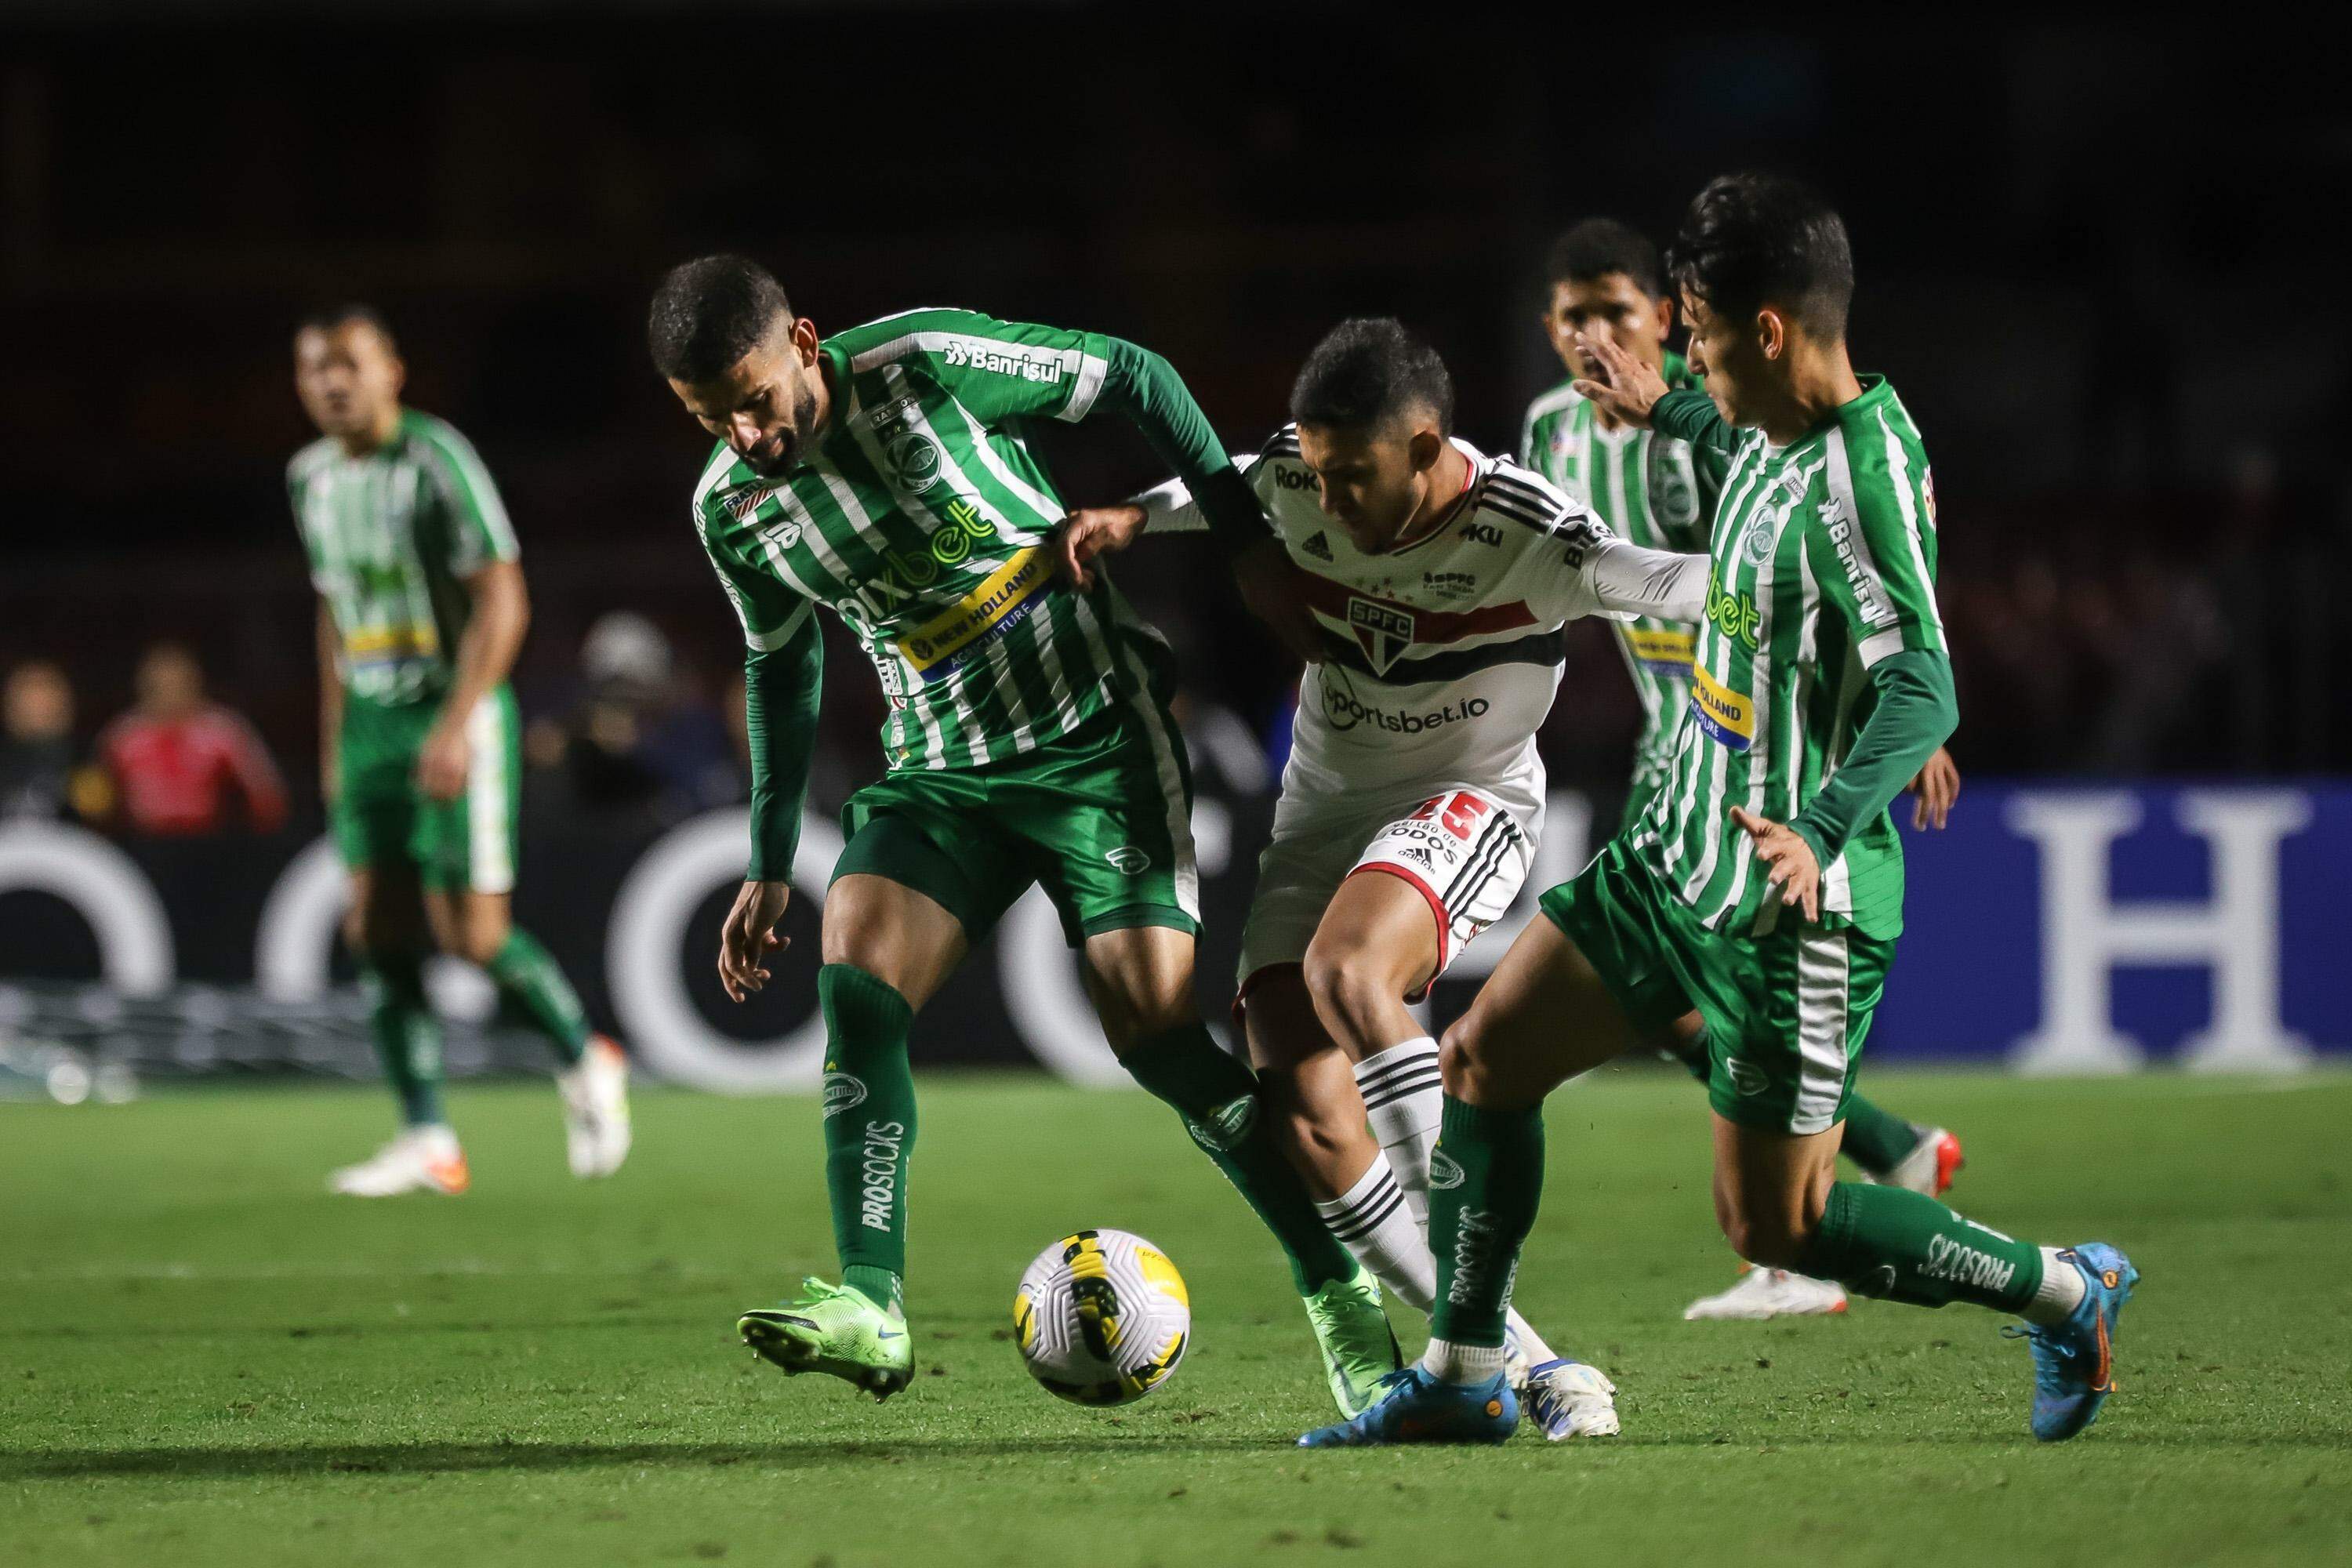
<path id="1" fill-rule="evenodd" d="M 748 644 L 750 870 L 720 940 L 741 999 L 767 978 L 790 896 L 823 679 L 816 607 L 856 635 L 889 698 L 887 773 L 842 813 L 823 966 L 826 1187 L 842 1284 L 746 1312 L 788 1373 L 875 1399 L 906 1387 L 908 1027 L 1033 884 L 1082 952 L 1127 1070 L 1167 1100 L 1291 1255 L 1343 1413 L 1397 1366 L 1378 1286 L 1272 1143 L 1251 1070 L 1192 1006 L 1192 785 L 1169 651 L 1108 576 L 1080 590 L 1047 541 L 1065 508 L 1028 421 L 1115 411 L 1185 477 L 1244 597 L 1296 628 L 1289 567 L 1169 364 L 1091 331 L 908 310 L 821 339 L 741 256 L 661 282 L 654 364 L 717 437 L 694 527 Z M 811 867 L 814 870 L 814 867 Z"/>

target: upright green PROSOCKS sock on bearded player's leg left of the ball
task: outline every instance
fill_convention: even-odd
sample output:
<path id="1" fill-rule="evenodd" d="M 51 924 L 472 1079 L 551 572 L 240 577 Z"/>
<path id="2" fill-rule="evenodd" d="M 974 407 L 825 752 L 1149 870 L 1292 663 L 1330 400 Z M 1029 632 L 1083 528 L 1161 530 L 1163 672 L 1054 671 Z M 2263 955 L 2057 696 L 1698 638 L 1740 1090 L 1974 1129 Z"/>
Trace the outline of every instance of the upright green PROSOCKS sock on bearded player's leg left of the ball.
<path id="1" fill-rule="evenodd" d="M 826 1192 L 842 1284 L 896 1312 L 906 1279 L 906 1171 L 915 1154 L 915 1009 L 856 964 L 816 971 L 826 1013 Z"/>

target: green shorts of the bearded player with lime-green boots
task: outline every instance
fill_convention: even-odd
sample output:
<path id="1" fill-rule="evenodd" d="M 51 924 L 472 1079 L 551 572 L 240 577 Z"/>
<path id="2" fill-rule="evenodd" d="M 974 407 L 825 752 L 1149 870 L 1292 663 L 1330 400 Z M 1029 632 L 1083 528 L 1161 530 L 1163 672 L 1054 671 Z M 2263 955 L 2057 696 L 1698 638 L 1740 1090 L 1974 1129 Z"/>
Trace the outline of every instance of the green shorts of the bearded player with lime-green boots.
<path id="1" fill-rule="evenodd" d="M 1058 741 L 976 769 L 887 773 L 842 809 L 833 879 L 887 877 L 978 943 L 1042 884 L 1073 947 L 1101 931 L 1200 931 L 1192 769 L 1167 708 L 1138 696 Z"/>

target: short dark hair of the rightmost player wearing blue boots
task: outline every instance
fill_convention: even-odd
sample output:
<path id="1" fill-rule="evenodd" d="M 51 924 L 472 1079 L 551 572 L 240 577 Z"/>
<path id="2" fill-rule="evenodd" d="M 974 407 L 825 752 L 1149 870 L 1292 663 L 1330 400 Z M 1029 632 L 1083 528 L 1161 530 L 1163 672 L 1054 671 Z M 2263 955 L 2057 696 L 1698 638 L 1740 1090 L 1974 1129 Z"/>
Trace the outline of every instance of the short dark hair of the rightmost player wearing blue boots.
<path id="1" fill-rule="evenodd" d="M 1804 181 L 1717 174 L 1691 197 L 1665 261 L 1715 313 L 1780 306 L 1816 336 L 1846 336 L 1853 247 L 1844 219 Z"/>

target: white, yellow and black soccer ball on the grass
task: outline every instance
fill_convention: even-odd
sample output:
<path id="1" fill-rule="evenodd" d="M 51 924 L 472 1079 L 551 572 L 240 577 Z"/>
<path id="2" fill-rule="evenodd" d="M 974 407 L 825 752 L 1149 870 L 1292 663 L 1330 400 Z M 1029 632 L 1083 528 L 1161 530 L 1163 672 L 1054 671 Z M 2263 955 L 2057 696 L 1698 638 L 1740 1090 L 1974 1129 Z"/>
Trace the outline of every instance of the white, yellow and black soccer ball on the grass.
<path id="1" fill-rule="evenodd" d="M 1169 1255 L 1124 1229 L 1082 1229 L 1037 1253 L 1014 1295 L 1030 1378 L 1070 1403 L 1124 1406 L 1176 1375 L 1192 1298 Z"/>

